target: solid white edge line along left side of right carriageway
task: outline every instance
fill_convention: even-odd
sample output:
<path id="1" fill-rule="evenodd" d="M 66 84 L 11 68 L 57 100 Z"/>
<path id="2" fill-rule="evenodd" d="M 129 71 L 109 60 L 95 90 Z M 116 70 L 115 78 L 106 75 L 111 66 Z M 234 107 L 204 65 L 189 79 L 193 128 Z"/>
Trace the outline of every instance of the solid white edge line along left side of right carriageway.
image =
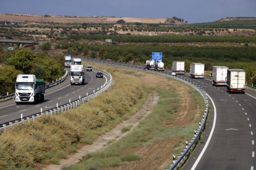
<path id="1" fill-rule="evenodd" d="M 210 132 L 210 135 L 207 139 L 207 142 L 205 143 L 205 146 L 203 147 L 203 150 L 202 152 L 200 153 L 200 155 L 198 156 L 197 160 L 195 161 L 194 165 L 192 166 L 192 170 L 194 170 L 196 167 L 197 167 L 197 164 L 199 163 L 199 161 L 201 160 L 202 156 L 203 156 L 203 153 L 205 153 L 205 150 L 207 149 L 209 143 L 210 143 L 210 140 L 211 140 L 211 137 L 213 136 L 213 132 L 214 132 L 214 129 L 215 129 L 215 124 L 216 124 L 216 117 L 217 117 L 217 112 L 216 112 L 216 107 L 215 107 L 215 103 L 213 102 L 213 99 L 211 99 L 210 95 L 207 94 L 207 96 L 209 97 L 209 99 L 211 100 L 211 103 L 213 103 L 213 108 L 214 108 L 214 118 L 213 118 L 213 127 L 211 129 L 211 132 Z"/>

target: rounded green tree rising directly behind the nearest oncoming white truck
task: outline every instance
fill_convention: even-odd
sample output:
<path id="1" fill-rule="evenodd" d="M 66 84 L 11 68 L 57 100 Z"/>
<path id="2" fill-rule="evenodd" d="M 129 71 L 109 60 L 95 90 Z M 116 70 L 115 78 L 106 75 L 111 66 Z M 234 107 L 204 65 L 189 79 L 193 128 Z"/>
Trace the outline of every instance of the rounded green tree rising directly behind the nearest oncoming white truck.
<path id="1" fill-rule="evenodd" d="M 13 65 L 16 70 L 20 70 L 23 73 L 30 73 L 30 70 L 33 65 L 33 60 L 36 58 L 36 55 L 27 48 L 22 48 L 17 51 L 9 59 L 7 59 L 7 65 Z"/>

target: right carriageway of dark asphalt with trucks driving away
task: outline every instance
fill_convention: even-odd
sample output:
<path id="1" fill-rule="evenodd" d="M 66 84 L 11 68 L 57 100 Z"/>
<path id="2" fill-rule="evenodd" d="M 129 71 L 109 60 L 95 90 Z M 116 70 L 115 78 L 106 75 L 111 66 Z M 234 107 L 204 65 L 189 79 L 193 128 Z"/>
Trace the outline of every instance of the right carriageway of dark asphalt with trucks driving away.
<path id="1" fill-rule="evenodd" d="M 216 124 L 215 129 L 211 129 L 214 118 L 214 113 L 211 113 L 205 136 L 184 169 L 256 168 L 256 92 L 247 90 L 245 94 L 229 94 L 225 86 L 212 86 L 209 79 L 191 80 L 202 86 L 213 100 Z M 213 135 L 207 145 L 211 131 Z"/>

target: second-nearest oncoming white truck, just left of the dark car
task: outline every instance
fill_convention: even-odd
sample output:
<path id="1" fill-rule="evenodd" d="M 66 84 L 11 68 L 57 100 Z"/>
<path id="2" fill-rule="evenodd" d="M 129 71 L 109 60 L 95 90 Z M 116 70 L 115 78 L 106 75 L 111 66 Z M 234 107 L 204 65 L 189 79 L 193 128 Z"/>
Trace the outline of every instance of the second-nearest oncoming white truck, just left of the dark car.
<path id="1" fill-rule="evenodd" d="M 83 65 L 71 65 L 70 84 L 85 84 L 85 73 Z"/>

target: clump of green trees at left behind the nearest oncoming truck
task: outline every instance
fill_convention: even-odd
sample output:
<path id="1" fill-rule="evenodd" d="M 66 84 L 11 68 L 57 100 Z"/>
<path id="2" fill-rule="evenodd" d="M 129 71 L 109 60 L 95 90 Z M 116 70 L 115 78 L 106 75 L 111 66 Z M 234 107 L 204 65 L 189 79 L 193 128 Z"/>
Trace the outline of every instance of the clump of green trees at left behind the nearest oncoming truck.
<path id="1" fill-rule="evenodd" d="M 15 91 L 15 81 L 19 74 L 36 75 L 36 78 L 44 79 L 46 83 L 64 75 L 62 57 L 49 57 L 43 52 L 35 54 L 28 48 L 0 51 L 0 96 Z"/>

